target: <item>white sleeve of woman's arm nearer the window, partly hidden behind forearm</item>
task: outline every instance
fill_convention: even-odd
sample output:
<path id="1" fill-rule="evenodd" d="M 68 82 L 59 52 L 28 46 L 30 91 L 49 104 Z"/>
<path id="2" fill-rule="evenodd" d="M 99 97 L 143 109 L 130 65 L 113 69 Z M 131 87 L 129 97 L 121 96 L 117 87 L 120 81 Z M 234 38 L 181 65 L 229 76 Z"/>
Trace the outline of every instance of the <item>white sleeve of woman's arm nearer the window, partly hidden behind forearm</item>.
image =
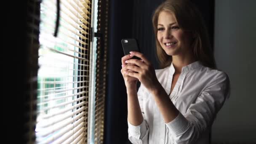
<path id="1" fill-rule="evenodd" d="M 139 87 L 138 91 L 139 105 L 141 108 L 143 122 L 140 125 L 134 126 L 128 122 L 128 139 L 132 144 L 148 144 L 148 134 L 149 126 L 147 120 L 145 119 L 144 109 L 143 109 L 143 97 L 146 94 L 143 85 Z"/>

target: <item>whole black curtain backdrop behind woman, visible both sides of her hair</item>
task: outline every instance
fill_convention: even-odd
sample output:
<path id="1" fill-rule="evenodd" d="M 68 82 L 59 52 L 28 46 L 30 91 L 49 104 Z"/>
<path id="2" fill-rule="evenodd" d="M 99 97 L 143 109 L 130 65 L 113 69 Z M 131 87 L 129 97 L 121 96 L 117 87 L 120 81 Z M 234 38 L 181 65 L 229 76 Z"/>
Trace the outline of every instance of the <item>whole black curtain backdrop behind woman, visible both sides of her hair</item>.
<path id="1" fill-rule="evenodd" d="M 111 0 L 109 2 L 108 92 L 105 109 L 105 144 L 130 144 L 127 96 L 121 70 L 123 38 L 136 38 L 142 53 L 159 68 L 152 28 L 152 13 L 163 0 Z M 214 0 L 192 0 L 203 13 L 213 43 Z M 138 83 L 139 87 L 139 83 Z"/>

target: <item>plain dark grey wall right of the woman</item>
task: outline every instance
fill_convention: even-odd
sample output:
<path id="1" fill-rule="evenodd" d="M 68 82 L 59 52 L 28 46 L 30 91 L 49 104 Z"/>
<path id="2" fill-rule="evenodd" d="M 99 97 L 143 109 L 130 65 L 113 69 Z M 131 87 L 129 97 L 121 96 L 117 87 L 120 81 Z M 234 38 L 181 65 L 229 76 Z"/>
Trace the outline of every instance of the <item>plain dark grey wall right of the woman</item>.
<path id="1" fill-rule="evenodd" d="M 212 127 L 212 141 L 256 144 L 256 0 L 216 0 L 215 56 L 231 94 Z"/>

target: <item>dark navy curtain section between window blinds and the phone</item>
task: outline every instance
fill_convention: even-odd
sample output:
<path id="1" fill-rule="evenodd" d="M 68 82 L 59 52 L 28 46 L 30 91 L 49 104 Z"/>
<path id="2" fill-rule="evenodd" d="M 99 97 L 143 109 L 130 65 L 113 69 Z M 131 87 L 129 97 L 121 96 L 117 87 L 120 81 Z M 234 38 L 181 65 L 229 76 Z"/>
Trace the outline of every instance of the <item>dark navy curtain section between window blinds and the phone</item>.
<path id="1" fill-rule="evenodd" d="M 125 144 L 128 141 L 127 97 L 121 70 L 124 56 L 121 40 L 132 37 L 132 0 L 109 1 L 109 52 L 104 143 Z"/>

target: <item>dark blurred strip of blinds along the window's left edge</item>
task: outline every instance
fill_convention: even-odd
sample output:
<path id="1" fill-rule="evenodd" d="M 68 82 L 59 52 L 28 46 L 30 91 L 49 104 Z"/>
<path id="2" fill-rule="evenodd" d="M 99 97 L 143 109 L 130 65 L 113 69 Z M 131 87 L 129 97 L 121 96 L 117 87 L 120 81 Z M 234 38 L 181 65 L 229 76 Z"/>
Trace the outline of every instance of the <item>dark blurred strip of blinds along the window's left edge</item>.
<path id="1" fill-rule="evenodd" d="M 26 37 L 24 52 L 24 69 L 21 71 L 23 80 L 21 83 L 24 93 L 23 111 L 24 111 L 24 132 L 23 139 L 25 144 L 35 144 L 35 126 L 36 126 L 36 100 L 37 100 L 37 70 L 38 70 L 38 48 L 39 48 L 39 24 L 40 24 L 40 2 L 37 0 L 25 0 L 26 9 L 26 29 L 22 34 Z M 19 16 L 22 16 L 20 13 Z M 20 45 L 20 44 L 19 44 Z M 22 45 L 21 45 L 22 46 Z M 19 47 L 22 48 L 22 47 Z M 22 72 L 21 72 L 22 73 Z"/>

